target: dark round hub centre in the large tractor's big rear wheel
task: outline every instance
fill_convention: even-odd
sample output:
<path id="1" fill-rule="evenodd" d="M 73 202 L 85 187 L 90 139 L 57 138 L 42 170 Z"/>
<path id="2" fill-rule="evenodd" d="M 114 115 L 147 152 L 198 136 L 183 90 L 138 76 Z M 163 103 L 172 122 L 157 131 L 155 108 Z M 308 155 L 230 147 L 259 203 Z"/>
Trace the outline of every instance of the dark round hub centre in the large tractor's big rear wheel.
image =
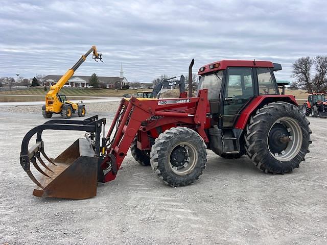
<path id="1" fill-rule="evenodd" d="M 276 123 L 270 130 L 268 136 L 269 149 L 272 154 L 281 154 L 291 141 L 287 128 L 281 123 Z"/>

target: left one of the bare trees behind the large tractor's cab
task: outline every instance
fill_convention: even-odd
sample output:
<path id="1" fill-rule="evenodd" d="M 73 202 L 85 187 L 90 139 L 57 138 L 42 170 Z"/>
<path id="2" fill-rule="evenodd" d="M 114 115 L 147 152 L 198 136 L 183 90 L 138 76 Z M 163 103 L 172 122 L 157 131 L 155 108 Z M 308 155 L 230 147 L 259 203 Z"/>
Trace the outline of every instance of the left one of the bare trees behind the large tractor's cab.
<path id="1" fill-rule="evenodd" d="M 292 77 L 296 78 L 297 88 L 304 88 L 309 92 L 313 91 L 311 81 L 311 67 L 313 65 L 313 59 L 309 56 L 299 58 L 292 65 L 293 74 Z"/>

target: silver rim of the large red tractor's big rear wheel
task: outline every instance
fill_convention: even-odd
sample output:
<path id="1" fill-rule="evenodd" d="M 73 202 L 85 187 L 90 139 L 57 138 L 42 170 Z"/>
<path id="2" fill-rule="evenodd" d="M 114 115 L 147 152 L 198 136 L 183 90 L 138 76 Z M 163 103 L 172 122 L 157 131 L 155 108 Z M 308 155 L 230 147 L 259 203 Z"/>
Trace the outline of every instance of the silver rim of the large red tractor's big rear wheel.
<path id="1" fill-rule="evenodd" d="M 292 160 L 302 146 L 302 130 L 298 122 L 291 117 L 282 117 L 271 126 L 268 137 L 270 154 L 279 161 Z"/>

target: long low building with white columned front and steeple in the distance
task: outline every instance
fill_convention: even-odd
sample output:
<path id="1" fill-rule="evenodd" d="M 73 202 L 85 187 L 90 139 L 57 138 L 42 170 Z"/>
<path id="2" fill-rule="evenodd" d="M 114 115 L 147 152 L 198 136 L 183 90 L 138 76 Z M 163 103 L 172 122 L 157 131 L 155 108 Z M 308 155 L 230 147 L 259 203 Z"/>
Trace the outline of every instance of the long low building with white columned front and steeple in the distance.
<path id="1" fill-rule="evenodd" d="M 61 75 L 48 75 L 41 79 L 43 86 L 52 86 L 56 84 Z M 69 79 L 65 87 L 79 87 L 85 88 L 90 87 L 89 81 L 91 76 L 73 76 Z M 123 88 L 128 84 L 127 79 L 124 77 L 123 64 L 121 65 L 120 77 L 98 77 L 99 85 L 104 85 L 106 88 Z"/>

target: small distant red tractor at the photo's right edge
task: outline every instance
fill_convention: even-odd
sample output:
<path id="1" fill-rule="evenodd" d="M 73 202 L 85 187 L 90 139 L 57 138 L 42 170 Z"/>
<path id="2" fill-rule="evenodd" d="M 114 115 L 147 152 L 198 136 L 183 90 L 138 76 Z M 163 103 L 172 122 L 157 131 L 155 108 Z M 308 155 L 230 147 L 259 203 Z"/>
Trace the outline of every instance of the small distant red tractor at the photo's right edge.
<path id="1" fill-rule="evenodd" d="M 308 101 L 302 106 L 303 113 L 312 117 L 327 117 L 327 102 L 324 93 L 312 93 L 308 95 Z"/>

